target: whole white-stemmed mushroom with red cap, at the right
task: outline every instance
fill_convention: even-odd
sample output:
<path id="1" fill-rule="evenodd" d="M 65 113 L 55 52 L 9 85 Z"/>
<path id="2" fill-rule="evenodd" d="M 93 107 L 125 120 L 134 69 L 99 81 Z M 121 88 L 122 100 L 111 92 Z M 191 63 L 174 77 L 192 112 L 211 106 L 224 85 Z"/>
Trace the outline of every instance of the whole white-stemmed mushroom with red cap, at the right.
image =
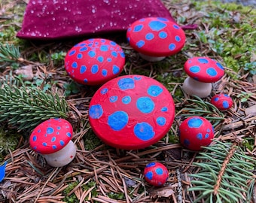
<path id="1" fill-rule="evenodd" d="M 208 57 L 194 57 L 184 63 L 184 71 L 188 74 L 183 83 L 187 95 L 197 95 L 200 98 L 209 96 L 212 83 L 224 75 L 224 67 Z"/>

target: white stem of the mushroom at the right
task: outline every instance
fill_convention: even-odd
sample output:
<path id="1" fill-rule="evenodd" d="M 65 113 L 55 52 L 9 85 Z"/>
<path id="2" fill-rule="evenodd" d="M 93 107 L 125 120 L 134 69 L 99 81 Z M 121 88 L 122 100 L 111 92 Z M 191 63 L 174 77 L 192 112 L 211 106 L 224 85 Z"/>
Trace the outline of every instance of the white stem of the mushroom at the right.
<path id="1" fill-rule="evenodd" d="M 203 83 L 191 77 L 187 77 L 184 80 L 182 89 L 187 95 L 197 95 L 200 98 L 206 98 L 212 92 L 212 83 Z"/>

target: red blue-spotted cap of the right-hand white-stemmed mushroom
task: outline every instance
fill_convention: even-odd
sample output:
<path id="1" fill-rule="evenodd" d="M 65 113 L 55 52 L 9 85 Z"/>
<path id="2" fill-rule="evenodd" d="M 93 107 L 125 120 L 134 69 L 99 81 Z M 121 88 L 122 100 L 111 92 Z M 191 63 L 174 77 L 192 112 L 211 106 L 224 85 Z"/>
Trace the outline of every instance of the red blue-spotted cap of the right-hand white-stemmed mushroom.
<path id="1" fill-rule="evenodd" d="M 224 75 L 224 67 L 214 59 L 208 57 L 194 57 L 184 64 L 184 71 L 194 80 L 212 83 Z"/>

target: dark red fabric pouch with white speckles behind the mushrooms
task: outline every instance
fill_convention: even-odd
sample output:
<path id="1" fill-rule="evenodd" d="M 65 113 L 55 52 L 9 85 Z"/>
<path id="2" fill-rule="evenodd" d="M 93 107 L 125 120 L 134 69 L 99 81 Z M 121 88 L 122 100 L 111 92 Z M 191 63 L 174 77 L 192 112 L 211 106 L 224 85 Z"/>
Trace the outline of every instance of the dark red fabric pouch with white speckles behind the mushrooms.
<path id="1" fill-rule="evenodd" d="M 121 32 L 142 17 L 175 21 L 160 0 L 30 0 L 17 37 L 50 40 Z"/>

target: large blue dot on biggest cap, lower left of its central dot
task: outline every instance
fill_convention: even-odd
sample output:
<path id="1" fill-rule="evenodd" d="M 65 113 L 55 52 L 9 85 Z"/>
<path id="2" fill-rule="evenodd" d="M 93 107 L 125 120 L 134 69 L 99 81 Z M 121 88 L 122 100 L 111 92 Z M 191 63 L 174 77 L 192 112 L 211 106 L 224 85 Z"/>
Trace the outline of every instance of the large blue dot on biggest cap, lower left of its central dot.
<path id="1" fill-rule="evenodd" d="M 124 111 L 116 111 L 108 117 L 108 126 L 114 131 L 120 131 L 128 123 L 128 114 Z"/>

